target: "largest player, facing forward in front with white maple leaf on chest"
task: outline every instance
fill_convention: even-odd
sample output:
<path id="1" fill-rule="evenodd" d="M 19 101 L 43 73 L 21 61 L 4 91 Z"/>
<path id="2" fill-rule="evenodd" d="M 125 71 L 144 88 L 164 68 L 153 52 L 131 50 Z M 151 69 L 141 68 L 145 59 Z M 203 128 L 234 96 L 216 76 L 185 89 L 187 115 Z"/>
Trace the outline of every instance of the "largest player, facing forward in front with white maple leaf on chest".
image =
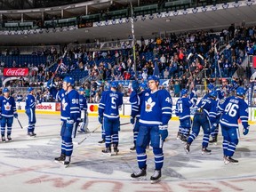
<path id="1" fill-rule="evenodd" d="M 159 78 L 148 76 L 148 90 L 141 92 L 137 102 L 140 105 L 139 134 L 136 141 L 136 153 L 140 170 L 133 172 L 132 179 L 142 179 L 147 175 L 148 143 L 153 147 L 155 172 L 150 177 L 151 183 L 161 178 L 164 164 L 163 144 L 168 136 L 168 122 L 172 117 L 172 98 L 166 90 L 158 90 Z"/>

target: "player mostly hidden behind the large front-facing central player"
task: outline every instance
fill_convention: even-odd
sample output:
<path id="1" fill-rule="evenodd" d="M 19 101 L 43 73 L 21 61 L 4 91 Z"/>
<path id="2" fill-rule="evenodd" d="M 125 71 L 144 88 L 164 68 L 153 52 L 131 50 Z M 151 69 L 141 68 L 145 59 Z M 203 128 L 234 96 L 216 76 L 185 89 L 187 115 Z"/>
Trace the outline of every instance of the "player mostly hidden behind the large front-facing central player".
<path id="1" fill-rule="evenodd" d="M 131 151 L 136 149 L 136 140 L 139 133 L 139 120 L 140 120 L 140 105 L 137 104 L 137 94 L 138 92 L 143 92 L 145 89 L 148 88 L 148 85 L 145 83 L 138 83 L 138 81 L 132 82 L 132 92 L 130 95 L 129 101 L 132 104 L 132 112 L 131 112 L 131 119 L 130 122 L 133 124 L 133 144 L 134 146 L 130 148 Z M 135 100 L 134 100 L 135 99 Z"/>

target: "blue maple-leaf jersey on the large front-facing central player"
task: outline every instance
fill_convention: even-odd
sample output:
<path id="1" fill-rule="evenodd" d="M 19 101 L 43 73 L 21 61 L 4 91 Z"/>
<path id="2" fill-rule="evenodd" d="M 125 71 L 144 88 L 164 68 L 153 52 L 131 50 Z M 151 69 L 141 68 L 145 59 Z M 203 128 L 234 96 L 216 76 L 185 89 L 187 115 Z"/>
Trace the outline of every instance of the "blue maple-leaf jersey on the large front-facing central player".
<path id="1" fill-rule="evenodd" d="M 143 91 L 140 95 L 140 108 L 141 125 L 168 124 L 172 117 L 172 97 L 166 90 Z"/>

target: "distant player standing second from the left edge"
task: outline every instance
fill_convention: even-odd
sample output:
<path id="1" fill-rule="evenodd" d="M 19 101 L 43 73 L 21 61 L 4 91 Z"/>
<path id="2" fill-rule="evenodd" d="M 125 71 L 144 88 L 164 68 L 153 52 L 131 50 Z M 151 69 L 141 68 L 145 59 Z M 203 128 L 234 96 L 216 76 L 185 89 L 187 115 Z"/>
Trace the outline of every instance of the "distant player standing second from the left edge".
<path id="1" fill-rule="evenodd" d="M 28 87 L 28 95 L 26 97 L 25 112 L 28 116 L 28 136 L 35 137 L 36 124 L 36 99 L 34 96 L 34 88 Z"/>

